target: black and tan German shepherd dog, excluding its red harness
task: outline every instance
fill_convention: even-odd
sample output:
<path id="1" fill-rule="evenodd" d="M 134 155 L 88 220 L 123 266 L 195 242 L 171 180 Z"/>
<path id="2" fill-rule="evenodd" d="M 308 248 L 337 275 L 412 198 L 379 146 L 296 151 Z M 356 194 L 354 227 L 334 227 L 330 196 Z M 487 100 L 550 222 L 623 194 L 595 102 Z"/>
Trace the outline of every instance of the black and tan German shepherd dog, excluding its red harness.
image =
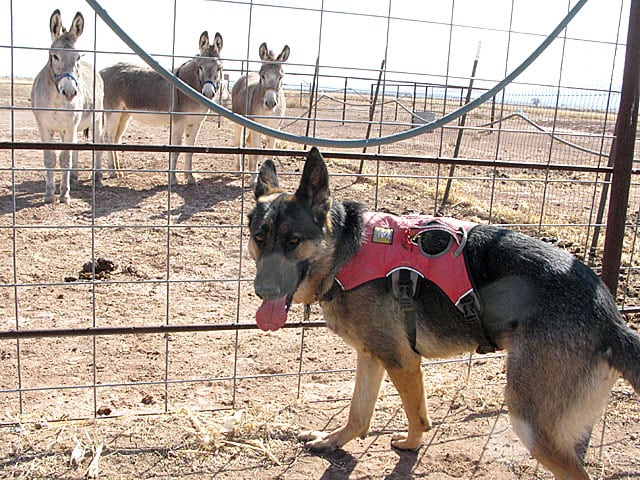
<path id="1" fill-rule="evenodd" d="M 474 327 L 438 286 L 421 278 L 412 299 L 412 345 L 407 314 L 389 278 L 341 288 L 336 276 L 363 242 L 365 207 L 332 199 L 316 148 L 295 193 L 279 187 L 274 163 L 265 161 L 255 198 L 249 249 L 254 288 L 263 300 L 259 326 L 277 330 L 292 302 L 318 301 L 329 328 L 357 350 L 347 424 L 303 432 L 300 440 L 312 451 L 330 451 L 364 436 L 386 371 L 409 423 L 392 446 L 418 448 L 431 427 L 421 356 L 476 350 Z M 508 351 L 506 401 L 516 434 L 556 478 L 588 480 L 584 453 L 616 377 L 640 392 L 640 338 L 625 325 L 607 287 L 565 251 L 490 225 L 471 228 L 464 250 L 486 338 Z"/>

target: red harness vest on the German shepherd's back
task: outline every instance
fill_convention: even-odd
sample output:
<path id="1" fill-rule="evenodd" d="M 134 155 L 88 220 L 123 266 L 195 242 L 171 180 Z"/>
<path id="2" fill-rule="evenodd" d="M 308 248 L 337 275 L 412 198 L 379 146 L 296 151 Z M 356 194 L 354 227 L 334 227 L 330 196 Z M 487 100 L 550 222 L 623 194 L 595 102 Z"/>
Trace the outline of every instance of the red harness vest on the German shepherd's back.
<path id="1" fill-rule="evenodd" d="M 351 261 L 336 275 L 343 290 L 408 269 L 435 283 L 454 305 L 473 292 L 464 260 L 467 233 L 476 224 L 445 217 L 396 216 L 366 212 L 364 239 Z M 420 250 L 420 235 L 439 230 L 452 241 L 437 255 Z"/>

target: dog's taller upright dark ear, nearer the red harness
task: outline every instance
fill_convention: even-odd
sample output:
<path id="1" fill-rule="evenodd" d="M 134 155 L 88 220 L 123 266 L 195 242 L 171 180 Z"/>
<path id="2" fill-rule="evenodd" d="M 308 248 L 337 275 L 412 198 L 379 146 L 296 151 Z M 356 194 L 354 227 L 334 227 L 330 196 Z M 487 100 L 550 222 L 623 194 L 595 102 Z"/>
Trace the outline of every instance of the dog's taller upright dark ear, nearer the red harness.
<path id="1" fill-rule="evenodd" d="M 313 147 L 307 155 L 300 185 L 296 190 L 296 198 L 300 202 L 309 204 L 316 216 L 316 221 L 320 224 L 324 223 L 331 205 L 329 171 L 316 147 Z"/>

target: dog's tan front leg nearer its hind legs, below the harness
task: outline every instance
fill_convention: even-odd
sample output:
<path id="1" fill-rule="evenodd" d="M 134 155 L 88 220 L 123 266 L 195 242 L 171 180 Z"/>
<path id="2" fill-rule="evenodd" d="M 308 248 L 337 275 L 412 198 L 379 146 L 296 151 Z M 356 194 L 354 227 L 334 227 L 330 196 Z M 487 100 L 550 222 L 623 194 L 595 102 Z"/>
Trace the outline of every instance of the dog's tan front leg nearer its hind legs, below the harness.
<path id="1" fill-rule="evenodd" d="M 422 443 L 422 434 L 431 429 L 431 419 L 427 413 L 424 394 L 421 357 L 414 356 L 409 365 L 403 368 L 387 368 L 389 377 L 395 385 L 409 422 L 406 434 L 397 434 L 391 445 L 401 450 L 415 450 Z"/>

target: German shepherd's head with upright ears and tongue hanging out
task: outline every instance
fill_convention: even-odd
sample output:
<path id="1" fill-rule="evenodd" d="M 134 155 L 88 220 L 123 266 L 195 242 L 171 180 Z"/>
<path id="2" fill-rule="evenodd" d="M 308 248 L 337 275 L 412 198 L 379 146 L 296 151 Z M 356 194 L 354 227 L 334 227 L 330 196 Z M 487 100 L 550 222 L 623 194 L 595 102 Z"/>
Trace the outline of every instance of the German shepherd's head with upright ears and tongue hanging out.
<path id="1" fill-rule="evenodd" d="M 266 160 L 249 214 L 249 251 L 256 261 L 254 288 L 263 300 L 256 322 L 263 330 L 284 325 L 292 302 L 311 303 L 333 262 L 329 173 L 314 147 L 295 193 L 280 188 Z"/>

